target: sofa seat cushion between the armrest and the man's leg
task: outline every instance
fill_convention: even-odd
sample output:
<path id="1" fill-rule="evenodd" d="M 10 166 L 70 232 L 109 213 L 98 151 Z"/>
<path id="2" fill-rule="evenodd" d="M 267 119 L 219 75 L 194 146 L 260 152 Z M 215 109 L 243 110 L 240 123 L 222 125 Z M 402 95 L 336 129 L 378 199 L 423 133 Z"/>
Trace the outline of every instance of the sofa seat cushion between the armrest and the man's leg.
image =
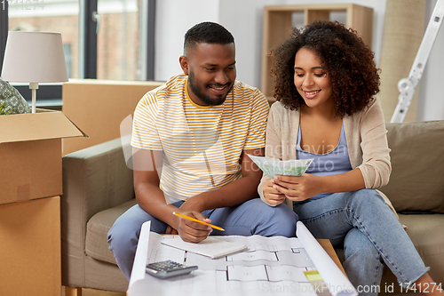
<path id="1" fill-rule="evenodd" d="M 135 198 L 114 208 L 98 212 L 88 220 L 85 240 L 85 252 L 87 255 L 95 260 L 116 264 L 113 252 L 108 249 L 107 233 L 115 220 L 134 204 L 136 204 Z"/>

